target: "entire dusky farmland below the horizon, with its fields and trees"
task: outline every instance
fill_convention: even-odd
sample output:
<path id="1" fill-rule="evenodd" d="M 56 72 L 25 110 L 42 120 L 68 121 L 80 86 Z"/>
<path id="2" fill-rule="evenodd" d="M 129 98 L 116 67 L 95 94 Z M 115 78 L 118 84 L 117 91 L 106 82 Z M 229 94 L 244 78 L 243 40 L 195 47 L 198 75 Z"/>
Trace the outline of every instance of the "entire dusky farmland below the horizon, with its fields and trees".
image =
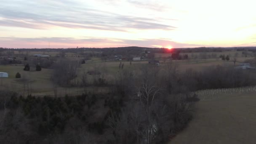
<path id="1" fill-rule="evenodd" d="M 0 132 L 6 133 L 0 141 L 37 136 L 51 143 L 54 133 L 61 138 L 56 143 L 78 140 L 81 144 L 86 133 L 91 143 L 113 144 L 252 144 L 256 140 L 255 52 L 193 50 L 188 56 L 173 52 L 171 58 L 164 57 L 168 53 L 146 54 L 145 49 L 80 50 L 1 52 L 0 72 L 9 77 L 0 78 L 4 106 L 0 123 L 5 125 Z M 140 61 L 131 61 L 137 56 Z M 27 125 L 32 134 L 24 135 L 27 120 L 33 120 Z"/>

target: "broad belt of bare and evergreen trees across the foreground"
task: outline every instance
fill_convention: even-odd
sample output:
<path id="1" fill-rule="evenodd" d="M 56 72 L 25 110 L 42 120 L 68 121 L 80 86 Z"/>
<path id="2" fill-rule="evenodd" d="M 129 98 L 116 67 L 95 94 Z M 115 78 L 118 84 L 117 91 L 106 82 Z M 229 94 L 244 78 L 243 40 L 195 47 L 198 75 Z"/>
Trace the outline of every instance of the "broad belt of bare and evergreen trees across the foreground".
<path id="1" fill-rule="evenodd" d="M 74 65 L 65 64 L 67 72 L 74 70 Z M 56 84 L 71 85 L 67 81 L 72 78 L 68 78 Z M 172 63 L 120 68 L 107 81 L 107 94 L 85 91 L 73 97 L 23 97 L 0 93 L 0 141 L 163 144 L 192 119 L 194 103 L 199 100 L 195 91 L 256 85 L 255 72 L 250 70 L 216 66 L 179 72 Z"/>

